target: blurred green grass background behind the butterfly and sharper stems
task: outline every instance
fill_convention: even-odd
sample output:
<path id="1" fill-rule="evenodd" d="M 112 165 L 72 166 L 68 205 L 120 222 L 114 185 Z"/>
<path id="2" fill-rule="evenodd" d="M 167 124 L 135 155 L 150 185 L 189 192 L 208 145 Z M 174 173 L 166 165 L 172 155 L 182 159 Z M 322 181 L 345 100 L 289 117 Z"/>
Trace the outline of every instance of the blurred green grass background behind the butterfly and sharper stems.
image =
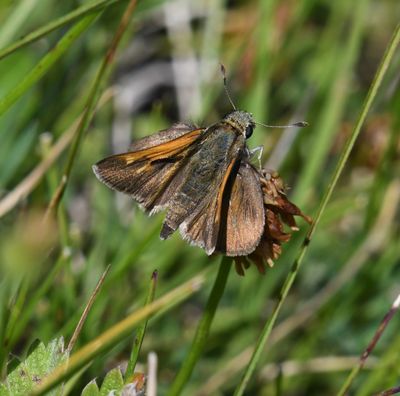
<path id="1" fill-rule="evenodd" d="M 2 0 L 0 48 L 84 4 Z M 0 59 L 0 357 L 4 366 L 10 356 L 23 358 L 35 339 L 68 340 L 108 264 L 76 348 L 143 305 L 153 270 L 160 296 L 211 267 L 199 293 L 149 322 L 140 362 L 145 365 L 149 351 L 157 353 L 163 394 L 190 347 L 219 258 L 208 258 L 179 235 L 160 241 L 163 214 L 147 217 L 129 197 L 99 183 L 91 165 L 173 122 L 207 126 L 219 120 L 231 110 L 222 62 L 238 108 L 259 122 L 310 124 L 302 130 L 257 127 L 248 143 L 264 146 L 265 166 L 278 170 L 289 198 L 315 215 L 400 20 L 400 2 L 139 1 L 57 219 L 44 227 L 44 210 L 67 160 L 68 129 L 83 111 L 125 6 L 109 6 L 12 105 L 1 100 L 17 91 L 71 24 Z M 397 51 L 249 395 L 335 394 L 400 291 L 399 70 Z M 16 195 L 57 145 L 63 149 L 52 166 Z M 245 277 L 231 272 L 185 394 L 232 394 L 308 228 L 298 223 L 300 231 L 264 276 L 255 267 Z M 399 326 L 394 317 L 353 394 L 400 384 Z M 10 344 L 4 344 L 7 332 Z M 126 362 L 130 344 L 96 359 L 72 393 Z"/>

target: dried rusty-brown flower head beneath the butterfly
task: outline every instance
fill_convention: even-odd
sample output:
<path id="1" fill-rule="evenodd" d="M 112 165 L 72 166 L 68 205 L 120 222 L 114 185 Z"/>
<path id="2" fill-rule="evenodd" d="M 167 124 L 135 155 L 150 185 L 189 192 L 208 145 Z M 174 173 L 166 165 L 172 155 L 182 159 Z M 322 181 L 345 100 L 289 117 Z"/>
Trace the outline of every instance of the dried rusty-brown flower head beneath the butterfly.
<path id="1" fill-rule="evenodd" d="M 295 204 L 289 201 L 285 186 L 276 171 L 262 169 L 259 180 L 264 196 L 265 226 L 260 243 L 248 256 L 235 257 L 236 271 L 244 275 L 244 269 L 253 262 L 260 273 L 265 273 L 265 263 L 274 265 L 282 252 L 281 245 L 289 241 L 291 234 L 285 232 L 285 224 L 292 231 L 298 231 L 294 216 L 301 216 L 308 223 L 311 218 L 306 216 Z"/>

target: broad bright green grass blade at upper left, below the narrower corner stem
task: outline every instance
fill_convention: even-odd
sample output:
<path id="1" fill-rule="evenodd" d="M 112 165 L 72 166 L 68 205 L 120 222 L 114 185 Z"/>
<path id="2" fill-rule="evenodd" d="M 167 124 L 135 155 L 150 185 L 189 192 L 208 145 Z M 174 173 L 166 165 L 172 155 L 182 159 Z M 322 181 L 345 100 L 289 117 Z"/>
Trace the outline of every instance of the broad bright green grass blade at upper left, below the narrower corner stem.
<path id="1" fill-rule="evenodd" d="M 0 116 L 3 115 L 33 84 L 40 80 L 54 65 L 62 54 L 74 43 L 74 41 L 92 24 L 98 14 L 88 15 L 77 22 L 50 50 L 39 63 L 13 88 L 0 99 Z"/>

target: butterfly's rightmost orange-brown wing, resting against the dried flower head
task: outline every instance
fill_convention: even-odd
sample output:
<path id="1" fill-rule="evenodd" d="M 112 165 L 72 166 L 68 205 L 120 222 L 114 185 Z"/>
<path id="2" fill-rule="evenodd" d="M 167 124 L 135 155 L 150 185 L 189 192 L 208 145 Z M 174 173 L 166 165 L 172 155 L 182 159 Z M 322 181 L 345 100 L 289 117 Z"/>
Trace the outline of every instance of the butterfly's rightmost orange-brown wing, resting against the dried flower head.
<path id="1" fill-rule="evenodd" d="M 257 171 L 242 162 L 226 188 L 216 250 L 227 256 L 252 253 L 264 231 L 264 202 Z"/>

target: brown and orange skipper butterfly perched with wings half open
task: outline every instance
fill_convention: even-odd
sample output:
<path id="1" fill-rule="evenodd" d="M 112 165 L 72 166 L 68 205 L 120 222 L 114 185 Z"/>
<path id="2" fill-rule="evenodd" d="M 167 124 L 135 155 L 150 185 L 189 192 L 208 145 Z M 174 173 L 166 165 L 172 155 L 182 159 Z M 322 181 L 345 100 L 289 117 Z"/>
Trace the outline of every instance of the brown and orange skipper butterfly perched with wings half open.
<path id="1" fill-rule="evenodd" d="M 177 123 L 134 142 L 129 152 L 99 161 L 93 170 L 146 212 L 166 211 L 161 239 L 179 230 L 208 255 L 247 255 L 265 224 L 260 174 L 246 144 L 254 128 L 252 115 L 240 110 L 207 128 Z"/>

